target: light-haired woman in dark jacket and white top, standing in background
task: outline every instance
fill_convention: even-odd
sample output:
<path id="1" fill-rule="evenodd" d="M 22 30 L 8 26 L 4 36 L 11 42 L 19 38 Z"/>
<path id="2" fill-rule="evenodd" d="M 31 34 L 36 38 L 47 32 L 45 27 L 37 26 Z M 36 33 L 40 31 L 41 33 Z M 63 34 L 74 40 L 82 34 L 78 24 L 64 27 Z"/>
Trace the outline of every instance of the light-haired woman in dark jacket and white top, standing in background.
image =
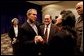
<path id="1" fill-rule="evenodd" d="M 13 18 L 11 20 L 11 23 L 12 23 L 12 27 L 10 28 L 8 35 L 12 40 L 11 44 L 13 47 L 13 54 L 17 55 L 17 54 L 19 54 L 19 47 L 20 47 L 19 40 L 21 37 L 21 33 L 20 33 L 21 29 L 20 29 L 19 21 L 17 18 Z"/>

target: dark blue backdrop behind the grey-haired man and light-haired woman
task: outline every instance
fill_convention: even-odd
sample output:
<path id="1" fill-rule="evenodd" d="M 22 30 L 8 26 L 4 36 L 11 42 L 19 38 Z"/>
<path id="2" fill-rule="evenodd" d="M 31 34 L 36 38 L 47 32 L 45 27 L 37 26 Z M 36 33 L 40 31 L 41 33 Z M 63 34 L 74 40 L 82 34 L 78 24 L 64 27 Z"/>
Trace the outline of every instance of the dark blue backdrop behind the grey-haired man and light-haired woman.
<path id="1" fill-rule="evenodd" d="M 37 9 L 37 21 L 42 22 L 42 7 L 23 1 L 4 1 L 1 3 L 1 34 L 7 33 L 11 27 L 11 20 L 17 17 L 22 25 L 26 20 L 26 11 L 30 8 Z"/>

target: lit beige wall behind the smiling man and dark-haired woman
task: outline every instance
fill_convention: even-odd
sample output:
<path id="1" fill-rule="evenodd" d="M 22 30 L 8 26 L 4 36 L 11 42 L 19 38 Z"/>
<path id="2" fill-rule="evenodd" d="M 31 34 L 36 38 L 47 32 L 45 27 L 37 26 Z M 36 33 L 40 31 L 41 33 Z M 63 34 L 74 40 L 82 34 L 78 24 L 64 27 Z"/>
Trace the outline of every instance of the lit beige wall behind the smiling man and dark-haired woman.
<path id="1" fill-rule="evenodd" d="M 58 3 L 42 6 L 42 18 L 45 14 L 50 14 L 52 19 L 55 19 L 55 16 L 60 14 L 60 11 L 63 9 L 71 10 L 75 17 L 78 17 L 78 14 L 75 9 L 75 5 L 80 1 L 61 1 Z"/>

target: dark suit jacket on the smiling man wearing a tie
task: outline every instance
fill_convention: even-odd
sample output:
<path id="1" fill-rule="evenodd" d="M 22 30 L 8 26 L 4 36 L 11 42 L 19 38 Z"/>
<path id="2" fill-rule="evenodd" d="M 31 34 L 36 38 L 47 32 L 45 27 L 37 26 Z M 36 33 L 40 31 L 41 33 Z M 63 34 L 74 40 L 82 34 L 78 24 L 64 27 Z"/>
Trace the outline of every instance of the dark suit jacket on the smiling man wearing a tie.
<path id="1" fill-rule="evenodd" d="M 45 28 L 45 25 L 41 25 L 40 28 L 41 28 L 42 37 L 44 39 L 44 28 Z M 58 32 L 57 30 L 58 30 L 58 28 L 56 27 L 56 25 L 51 24 L 49 38 L 48 38 L 48 43 L 44 43 L 43 47 L 41 49 L 42 50 L 42 54 L 44 56 L 48 56 L 48 55 L 52 54 L 50 52 L 50 51 L 52 51 L 52 48 L 53 48 L 52 45 L 51 45 L 51 43 L 52 43 L 52 41 L 54 41 L 53 38 L 54 38 L 55 34 Z"/>

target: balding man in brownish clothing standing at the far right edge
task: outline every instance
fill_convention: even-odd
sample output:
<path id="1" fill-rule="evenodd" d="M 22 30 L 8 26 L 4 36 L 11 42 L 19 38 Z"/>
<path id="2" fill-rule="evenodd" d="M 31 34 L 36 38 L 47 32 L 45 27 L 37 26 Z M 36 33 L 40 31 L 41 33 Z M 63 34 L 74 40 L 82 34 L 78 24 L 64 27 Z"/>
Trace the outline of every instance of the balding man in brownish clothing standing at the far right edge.
<path id="1" fill-rule="evenodd" d="M 76 4 L 77 13 L 80 15 L 76 21 L 75 29 L 77 32 L 77 55 L 83 55 L 83 2 Z"/>

